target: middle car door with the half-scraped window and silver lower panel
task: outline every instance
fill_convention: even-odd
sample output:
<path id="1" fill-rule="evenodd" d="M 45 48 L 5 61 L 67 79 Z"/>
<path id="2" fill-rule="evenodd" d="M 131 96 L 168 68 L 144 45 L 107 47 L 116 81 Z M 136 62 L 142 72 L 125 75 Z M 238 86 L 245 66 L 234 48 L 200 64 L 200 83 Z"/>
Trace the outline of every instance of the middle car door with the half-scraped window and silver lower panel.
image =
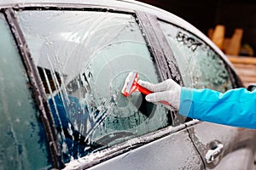
<path id="1" fill-rule="evenodd" d="M 143 94 L 120 93 L 130 71 L 156 83 L 177 68 L 162 59 L 148 18 L 131 9 L 74 7 L 44 4 L 13 13 L 67 169 L 201 169 L 184 117 Z"/>

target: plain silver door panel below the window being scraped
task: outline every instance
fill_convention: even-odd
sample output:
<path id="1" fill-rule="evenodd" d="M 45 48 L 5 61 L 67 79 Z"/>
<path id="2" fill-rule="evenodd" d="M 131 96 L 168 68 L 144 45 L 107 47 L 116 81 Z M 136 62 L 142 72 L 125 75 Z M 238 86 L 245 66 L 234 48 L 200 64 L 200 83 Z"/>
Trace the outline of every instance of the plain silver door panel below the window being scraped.
<path id="1" fill-rule="evenodd" d="M 89 169 L 203 169 L 201 157 L 195 150 L 186 128 L 181 127 L 183 129 L 164 138 L 125 152 Z M 183 147 L 177 150 L 180 145 Z M 70 162 L 66 168 L 82 168 L 83 160 L 78 162 Z"/>

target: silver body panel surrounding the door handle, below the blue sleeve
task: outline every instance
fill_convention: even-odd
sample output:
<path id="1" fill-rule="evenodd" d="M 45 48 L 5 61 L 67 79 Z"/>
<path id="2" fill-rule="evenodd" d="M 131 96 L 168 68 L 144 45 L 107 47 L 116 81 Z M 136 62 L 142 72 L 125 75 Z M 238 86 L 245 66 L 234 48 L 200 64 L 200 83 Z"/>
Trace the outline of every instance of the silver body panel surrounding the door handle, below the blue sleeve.
<path id="1" fill-rule="evenodd" d="M 255 130 L 201 122 L 188 127 L 191 139 L 204 159 L 207 169 L 253 169 Z M 229 134 L 229 135 L 227 135 Z M 232 142 L 231 142 L 232 141 Z M 224 145 L 222 153 L 207 163 L 211 143 Z M 213 146 L 214 147 L 214 146 Z"/>

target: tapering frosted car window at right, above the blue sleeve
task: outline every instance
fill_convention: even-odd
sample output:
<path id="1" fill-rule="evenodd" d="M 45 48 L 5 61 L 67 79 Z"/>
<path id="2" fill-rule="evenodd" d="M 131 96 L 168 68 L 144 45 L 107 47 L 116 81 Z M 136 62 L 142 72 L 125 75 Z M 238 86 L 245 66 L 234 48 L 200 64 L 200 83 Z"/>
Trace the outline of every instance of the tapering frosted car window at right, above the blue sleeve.
<path id="1" fill-rule="evenodd" d="M 186 87 L 211 88 L 224 92 L 232 88 L 224 61 L 195 35 L 160 21 Z"/>

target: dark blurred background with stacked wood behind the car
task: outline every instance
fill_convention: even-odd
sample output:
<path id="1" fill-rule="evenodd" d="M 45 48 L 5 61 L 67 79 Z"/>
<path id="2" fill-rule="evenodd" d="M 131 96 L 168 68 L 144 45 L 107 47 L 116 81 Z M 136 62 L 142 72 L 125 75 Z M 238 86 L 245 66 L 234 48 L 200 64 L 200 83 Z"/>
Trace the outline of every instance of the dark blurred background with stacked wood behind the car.
<path id="1" fill-rule="evenodd" d="M 187 20 L 222 49 L 247 86 L 256 83 L 255 0 L 139 0 Z"/>

